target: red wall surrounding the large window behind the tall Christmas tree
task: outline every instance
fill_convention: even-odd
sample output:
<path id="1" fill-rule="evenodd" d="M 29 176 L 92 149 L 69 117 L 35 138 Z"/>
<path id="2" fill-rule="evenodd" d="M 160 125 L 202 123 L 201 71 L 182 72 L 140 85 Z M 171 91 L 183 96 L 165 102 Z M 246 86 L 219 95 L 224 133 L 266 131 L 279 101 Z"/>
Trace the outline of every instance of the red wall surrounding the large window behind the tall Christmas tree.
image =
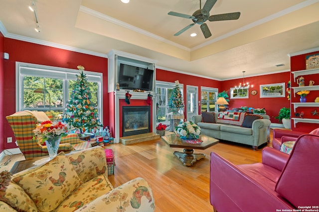
<path id="1" fill-rule="evenodd" d="M 77 69 L 78 65 L 85 67 L 87 71 L 103 73 L 103 120 L 104 125 L 108 125 L 108 92 L 107 92 L 107 70 L 108 61 L 106 58 L 72 52 L 68 50 L 43 46 L 39 44 L 4 38 L 4 52 L 9 54 L 9 60 L 4 60 L 4 94 L 5 99 L 4 114 L 1 122 L 4 123 L 2 138 L 13 137 L 13 132 L 5 120 L 5 116 L 15 113 L 15 62 L 40 64 L 46 66 Z M 1 68 L 0 68 L 1 69 Z M 3 72 L 3 71 L 0 71 Z M 0 75 L 1 80 L 1 75 Z M 2 84 L 2 83 L 1 83 Z M 1 112 L 0 112 L 1 113 Z M 1 125 L 2 126 L 2 125 Z M 1 133 L 1 132 L 0 132 Z M 14 141 L 14 139 L 13 139 Z M 1 142 L 3 143 L 3 141 Z M 16 148 L 14 142 L 4 142 L 4 148 Z"/>

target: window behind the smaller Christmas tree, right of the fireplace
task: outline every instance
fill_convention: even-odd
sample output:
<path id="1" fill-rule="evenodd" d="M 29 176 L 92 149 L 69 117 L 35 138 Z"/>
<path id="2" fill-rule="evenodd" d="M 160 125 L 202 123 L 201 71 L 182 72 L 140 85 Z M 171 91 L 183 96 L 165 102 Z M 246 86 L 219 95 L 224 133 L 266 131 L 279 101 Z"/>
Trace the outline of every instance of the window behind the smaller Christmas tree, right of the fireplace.
<path id="1" fill-rule="evenodd" d="M 172 112 L 171 108 L 167 108 L 168 100 L 171 96 L 171 92 L 175 86 L 175 83 L 171 82 L 156 82 L 155 92 L 156 92 L 156 122 L 169 124 L 169 120 L 166 120 L 166 114 Z M 183 84 L 179 84 L 179 89 L 183 94 Z M 183 110 L 179 110 L 179 113 L 183 113 Z"/>

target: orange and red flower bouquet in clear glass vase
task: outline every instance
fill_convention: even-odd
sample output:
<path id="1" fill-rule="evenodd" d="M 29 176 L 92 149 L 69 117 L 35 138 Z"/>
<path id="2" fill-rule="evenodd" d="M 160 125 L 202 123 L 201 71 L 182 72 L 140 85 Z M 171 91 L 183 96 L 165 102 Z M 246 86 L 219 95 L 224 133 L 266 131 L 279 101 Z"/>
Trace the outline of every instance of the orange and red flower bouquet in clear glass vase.
<path id="1" fill-rule="evenodd" d="M 49 156 L 52 159 L 57 155 L 61 137 L 66 136 L 68 130 L 68 124 L 44 121 L 41 124 L 36 125 L 36 128 L 33 130 L 33 139 L 41 139 L 41 143 L 45 141 Z"/>

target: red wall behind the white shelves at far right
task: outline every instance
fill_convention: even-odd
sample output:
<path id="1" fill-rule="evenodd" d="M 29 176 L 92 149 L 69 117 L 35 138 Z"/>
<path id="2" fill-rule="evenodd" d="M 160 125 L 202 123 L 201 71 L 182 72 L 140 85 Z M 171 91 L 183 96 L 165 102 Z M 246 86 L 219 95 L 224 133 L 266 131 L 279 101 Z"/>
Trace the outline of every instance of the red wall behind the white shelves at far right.
<path id="1" fill-rule="evenodd" d="M 291 63 L 291 71 L 301 71 L 301 70 L 306 70 L 306 56 L 307 55 L 312 55 L 312 54 L 318 54 L 318 52 L 312 52 L 312 53 L 307 53 L 303 55 L 298 55 L 298 56 L 293 56 L 290 58 L 290 63 Z M 298 76 L 297 78 L 300 78 L 301 76 Z M 304 75 L 305 78 L 305 85 L 309 85 L 310 80 L 315 81 L 315 85 L 319 84 L 319 74 L 310 74 L 310 75 Z M 296 82 L 294 81 L 294 74 L 291 73 L 291 86 L 292 87 L 298 87 L 299 85 L 297 84 L 297 78 Z M 305 89 L 307 90 L 307 89 Z M 319 96 L 319 91 L 318 90 L 311 90 L 310 93 L 307 95 L 307 102 L 315 102 L 316 97 Z M 294 97 L 294 90 L 292 89 L 292 95 L 291 95 L 291 100 L 292 102 L 300 102 L 300 96 L 296 93 L 296 97 Z M 301 113 L 304 112 L 304 118 L 305 119 L 319 119 L 319 116 L 314 116 L 312 115 L 312 111 L 317 110 L 319 112 L 318 107 L 298 107 L 296 109 L 296 113 Z M 299 118 L 298 116 L 295 116 L 294 112 L 294 105 L 291 104 L 291 111 L 292 111 L 292 118 L 296 117 Z M 294 127 L 294 122 L 292 120 L 291 124 L 292 130 L 294 131 L 300 131 L 300 132 L 305 132 L 305 133 L 310 133 L 311 131 L 317 129 L 319 127 L 319 124 L 314 124 L 314 123 L 297 123 L 296 128 Z"/>

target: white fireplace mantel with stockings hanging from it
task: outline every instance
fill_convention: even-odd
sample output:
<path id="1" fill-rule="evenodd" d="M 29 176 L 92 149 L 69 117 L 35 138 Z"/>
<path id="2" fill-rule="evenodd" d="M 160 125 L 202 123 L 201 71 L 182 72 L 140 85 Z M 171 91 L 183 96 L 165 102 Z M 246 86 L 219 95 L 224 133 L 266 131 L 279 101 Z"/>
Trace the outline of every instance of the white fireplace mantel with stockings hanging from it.
<path id="1" fill-rule="evenodd" d="M 121 126 L 120 126 L 120 99 L 125 99 L 125 94 L 127 93 L 127 90 L 117 90 L 114 91 L 114 96 L 115 96 L 115 104 L 114 104 L 114 109 L 115 109 L 115 142 L 120 142 L 120 131 L 121 131 Z M 150 93 L 153 98 L 152 98 L 152 104 L 151 104 L 151 110 L 152 110 L 152 117 L 151 117 L 151 122 L 152 122 L 152 132 L 156 132 L 156 93 L 153 91 L 148 91 L 148 92 L 134 92 L 132 90 L 129 90 L 129 93 L 132 94 L 131 100 L 147 100 L 148 99 L 148 94 Z M 130 105 L 127 105 L 130 106 Z"/>

